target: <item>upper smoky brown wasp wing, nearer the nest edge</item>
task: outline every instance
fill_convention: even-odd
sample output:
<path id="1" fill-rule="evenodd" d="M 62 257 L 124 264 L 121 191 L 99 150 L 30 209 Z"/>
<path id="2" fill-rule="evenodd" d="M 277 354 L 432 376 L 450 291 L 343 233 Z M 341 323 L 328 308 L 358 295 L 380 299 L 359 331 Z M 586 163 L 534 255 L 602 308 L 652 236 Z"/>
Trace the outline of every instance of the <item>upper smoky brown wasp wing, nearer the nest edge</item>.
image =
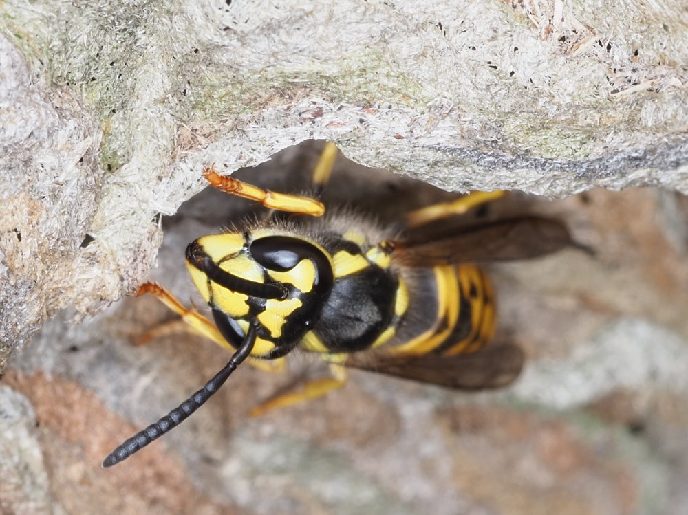
<path id="1" fill-rule="evenodd" d="M 394 259 L 406 266 L 527 259 L 574 245 L 562 223 L 534 216 L 460 226 L 432 237 L 387 243 Z"/>

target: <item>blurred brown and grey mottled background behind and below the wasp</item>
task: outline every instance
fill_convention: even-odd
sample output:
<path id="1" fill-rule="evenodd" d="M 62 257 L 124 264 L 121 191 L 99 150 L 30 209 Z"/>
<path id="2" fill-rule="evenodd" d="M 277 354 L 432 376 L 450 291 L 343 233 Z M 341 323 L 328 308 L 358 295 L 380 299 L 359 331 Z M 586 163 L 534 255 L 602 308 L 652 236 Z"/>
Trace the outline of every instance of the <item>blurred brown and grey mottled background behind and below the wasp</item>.
<path id="1" fill-rule="evenodd" d="M 299 192 L 322 142 L 235 175 Z M 338 158 L 325 204 L 393 223 L 453 198 Z M 213 188 L 162 219 L 158 281 L 202 305 L 186 245 L 259 212 Z M 0 381 L 0 514 L 686 514 L 688 513 L 688 199 L 657 189 L 548 200 L 514 192 L 471 216 L 539 213 L 565 221 L 575 248 L 489 267 L 498 338 L 528 355 L 490 393 L 351 371 L 313 402 L 248 410 L 307 377 L 241 366 L 193 417 L 104 470 L 120 443 L 200 388 L 229 358 L 173 333 L 175 316 L 127 298 L 79 325 L 49 322 Z M 78 281 L 78 278 L 74 278 Z"/>

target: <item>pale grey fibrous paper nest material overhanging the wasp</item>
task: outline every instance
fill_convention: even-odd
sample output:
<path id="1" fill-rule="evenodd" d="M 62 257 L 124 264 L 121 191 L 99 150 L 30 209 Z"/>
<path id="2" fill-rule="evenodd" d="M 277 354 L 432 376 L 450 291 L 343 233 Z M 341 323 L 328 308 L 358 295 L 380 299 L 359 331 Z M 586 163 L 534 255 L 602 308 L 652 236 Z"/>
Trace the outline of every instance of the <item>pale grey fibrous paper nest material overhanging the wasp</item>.
<path id="1" fill-rule="evenodd" d="M 155 214 L 203 187 L 203 164 L 230 173 L 322 138 L 453 190 L 688 192 L 680 0 L 0 12 L 0 365 L 58 309 L 131 292 Z"/>

